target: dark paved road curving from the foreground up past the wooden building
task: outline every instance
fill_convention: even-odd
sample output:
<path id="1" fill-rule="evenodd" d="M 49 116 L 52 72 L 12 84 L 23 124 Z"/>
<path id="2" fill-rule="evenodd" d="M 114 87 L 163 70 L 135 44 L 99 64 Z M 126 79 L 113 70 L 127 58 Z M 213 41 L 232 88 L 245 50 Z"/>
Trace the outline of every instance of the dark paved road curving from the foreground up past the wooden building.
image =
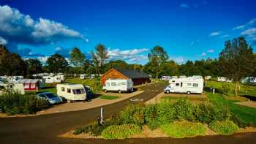
<path id="1" fill-rule="evenodd" d="M 164 85 L 145 86 L 145 91 L 134 98 L 145 101 L 162 91 Z M 118 113 L 129 104 L 129 99 L 106 105 L 105 116 Z M 86 105 L 86 104 L 85 104 Z M 83 140 L 57 137 L 70 129 L 83 126 L 94 121 L 99 115 L 99 107 L 75 112 L 37 115 L 21 118 L 0 118 L 0 144 L 34 144 L 34 143 L 256 143 L 256 133 L 236 134 L 234 136 L 211 136 L 187 139 L 129 139 L 129 140 Z"/>

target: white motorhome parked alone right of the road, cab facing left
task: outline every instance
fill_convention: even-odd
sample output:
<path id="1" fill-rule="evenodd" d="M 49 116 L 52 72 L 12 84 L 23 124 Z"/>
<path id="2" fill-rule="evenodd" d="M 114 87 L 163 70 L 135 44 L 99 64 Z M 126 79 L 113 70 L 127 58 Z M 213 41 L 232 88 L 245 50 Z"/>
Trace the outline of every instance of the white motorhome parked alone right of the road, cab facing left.
<path id="1" fill-rule="evenodd" d="M 173 79 L 169 86 L 164 89 L 165 93 L 187 93 L 202 94 L 203 78 L 197 77 L 181 77 Z"/>

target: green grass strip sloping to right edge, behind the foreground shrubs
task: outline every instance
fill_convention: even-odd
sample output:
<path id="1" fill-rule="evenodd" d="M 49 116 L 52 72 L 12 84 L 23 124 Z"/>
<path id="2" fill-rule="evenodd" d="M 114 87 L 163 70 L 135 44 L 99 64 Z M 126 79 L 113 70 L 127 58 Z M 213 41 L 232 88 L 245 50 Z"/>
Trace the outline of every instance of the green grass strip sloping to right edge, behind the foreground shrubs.
<path id="1" fill-rule="evenodd" d="M 238 116 L 238 118 L 241 118 L 241 120 L 245 121 L 246 123 L 252 123 L 256 126 L 256 108 L 235 104 L 236 102 L 241 102 L 241 101 L 223 99 L 222 94 L 210 94 L 210 93 L 206 93 L 206 94 L 208 96 L 208 99 L 211 100 L 211 102 L 216 103 L 217 105 L 219 105 L 219 107 L 221 105 L 227 104 L 228 108 L 234 115 Z"/>

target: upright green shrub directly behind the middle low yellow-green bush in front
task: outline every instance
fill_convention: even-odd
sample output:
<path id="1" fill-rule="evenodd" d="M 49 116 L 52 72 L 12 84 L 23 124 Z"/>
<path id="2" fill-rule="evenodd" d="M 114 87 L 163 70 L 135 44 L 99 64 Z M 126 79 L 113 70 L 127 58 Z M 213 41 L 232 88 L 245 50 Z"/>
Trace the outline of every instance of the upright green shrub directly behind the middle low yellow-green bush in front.
<path id="1" fill-rule="evenodd" d="M 176 120 L 182 121 L 194 121 L 195 116 L 193 115 L 194 107 L 187 99 L 178 99 L 178 101 L 173 105 L 175 109 Z"/>

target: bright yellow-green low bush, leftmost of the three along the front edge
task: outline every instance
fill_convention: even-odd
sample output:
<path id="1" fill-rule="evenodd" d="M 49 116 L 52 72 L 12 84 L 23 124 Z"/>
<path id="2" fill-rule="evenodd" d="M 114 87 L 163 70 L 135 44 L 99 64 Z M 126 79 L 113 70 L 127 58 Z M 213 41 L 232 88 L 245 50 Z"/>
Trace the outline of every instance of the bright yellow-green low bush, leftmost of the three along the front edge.
<path id="1" fill-rule="evenodd" d="M 102 137 L 108 140 L 124 139 L 132 134 L 140 134 L 140 132 L 140 126 L 135 124 L 113 125 L 103 130 Z"/>

